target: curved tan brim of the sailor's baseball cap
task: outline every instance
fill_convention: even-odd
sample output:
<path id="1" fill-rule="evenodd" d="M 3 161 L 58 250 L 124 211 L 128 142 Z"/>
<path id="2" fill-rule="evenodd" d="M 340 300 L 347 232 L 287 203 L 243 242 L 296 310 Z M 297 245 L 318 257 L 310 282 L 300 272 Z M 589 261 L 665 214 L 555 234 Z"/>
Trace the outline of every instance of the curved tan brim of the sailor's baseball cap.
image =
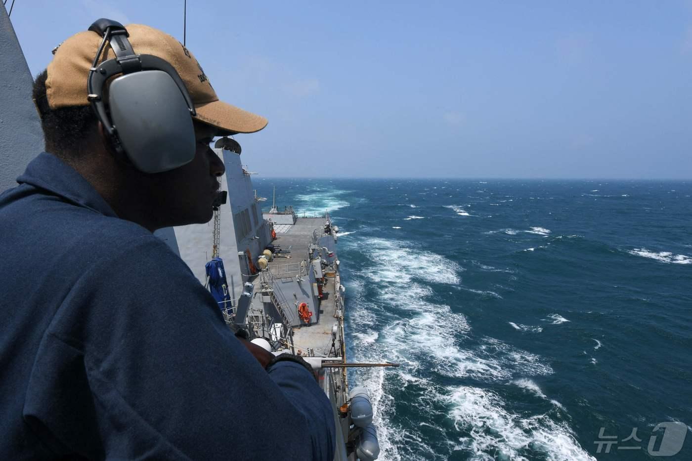
<path id="1" fill-rule="evenodd" d="M 217 127 L 219 136 L 259 132 L 267 124 L 266 118 L 222 101 L 196 104 L 194 109 L 197 115 L 193 118 Z"/>

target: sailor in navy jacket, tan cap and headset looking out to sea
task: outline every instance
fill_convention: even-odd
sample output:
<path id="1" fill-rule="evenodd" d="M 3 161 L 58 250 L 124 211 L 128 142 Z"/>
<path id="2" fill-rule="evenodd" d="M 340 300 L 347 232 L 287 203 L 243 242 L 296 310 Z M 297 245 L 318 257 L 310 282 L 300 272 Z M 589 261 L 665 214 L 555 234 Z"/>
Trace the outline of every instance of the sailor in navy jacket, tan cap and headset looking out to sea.
<path id="1" fill-rule="evenodd" d="M 0 457 L 333 459 L 309 365 L 234 336 L 153 235 L 212 218 L 210 141 L 266 119 L 170 35 L 106 19 L 34 98 L 46 152 L 0 195 Z"/>

